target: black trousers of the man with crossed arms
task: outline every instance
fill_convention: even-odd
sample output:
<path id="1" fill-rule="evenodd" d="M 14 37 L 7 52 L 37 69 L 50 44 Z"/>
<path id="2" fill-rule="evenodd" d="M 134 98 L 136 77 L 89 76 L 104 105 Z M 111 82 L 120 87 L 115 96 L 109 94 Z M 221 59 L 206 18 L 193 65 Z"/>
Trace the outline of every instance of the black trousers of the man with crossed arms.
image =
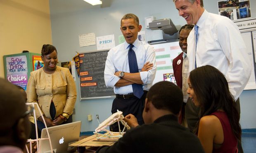
<path id="1" fill-rule="evenodd" d="M 123 112 L 124 117 L 128 114 L 133 114 L 137 118 L 139 125 L 144 124 L 142 112 L 145 105 L 146 95 L 147 93 L 144 93 L 140 99 L 137 97 L 131 97 L 128 99 L 116 97 L 112 104 L 111 113 L 116 113 L 118 109 L 119 111 Z M 120 130 L 123 130 L 123 127 L 124 126 L 120 123 Z M 110 125 L 110 131 L 119 132 L 119 126 L 117 122 Z"/>

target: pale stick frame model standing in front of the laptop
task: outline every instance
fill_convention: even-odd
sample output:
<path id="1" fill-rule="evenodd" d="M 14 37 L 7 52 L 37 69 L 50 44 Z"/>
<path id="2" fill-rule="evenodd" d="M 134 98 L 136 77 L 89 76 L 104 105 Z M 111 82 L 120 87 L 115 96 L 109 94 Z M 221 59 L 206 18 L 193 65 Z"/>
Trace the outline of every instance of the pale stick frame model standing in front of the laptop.
<path id="1" fill-rule="evenodd" d="M 43 118 L 43 113 L 42 111 L 40 110 L 40 107 L 38 106 L 38 103 L 36 102 L 27 102 L 26 105 L 32 105 L 32 109 L 33 109 L 33 116 L 34 116 L 34 119 L 35 119 L 35 125 L 36 125 L 36 139 L 28 139 L 27 142 L 30 143 L 30 148 L 28 149 L 28 146 L 26 146 L 26 151 L 27 153 L 32 153 L 32 142 L 33 141 L 36 141 L 36 146 L 37 146 L 37 153 L 40 153 L 40 148 L 39 148 L 39 140 L 45 140 L 45 139 L 49 139 L 49 142 L 50 142 L 50 148 L 51 148 L 51 153 L 53 153 L 53 150 L 52 150 L 52 142 L 51 142 L 51 139 L 50 139 L 50 134 L 49 134 L 49 131 L 48 131 L 48 128 L 46 126 L 46 123 L 45 123 L 45 118 Z M 46 128 L 46 131 L 47 131 L 47 135 L 48 135 L 48 138 L 38 138 L 38 130 L 37 130 L 37 122 L 36 122 L 36 111 L 35 111 L 35 105 L 36 107 L 38 108 L 38 111 L 40 112 L 40 116 L 42 116 L 43 118 L 43 123 L 45 124 L 45 128 Z"/>

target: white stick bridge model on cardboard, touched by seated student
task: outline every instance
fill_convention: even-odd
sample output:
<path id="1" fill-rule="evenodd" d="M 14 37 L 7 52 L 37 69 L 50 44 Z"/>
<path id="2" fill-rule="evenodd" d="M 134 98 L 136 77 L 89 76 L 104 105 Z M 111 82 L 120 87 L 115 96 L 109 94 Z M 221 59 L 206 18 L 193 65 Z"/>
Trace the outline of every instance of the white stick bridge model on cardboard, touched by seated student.
<path id="1" fill-rule="evenodd" d="M 112 114 L 104 122 L 100 123 L 100 125 L 95 129 L 95 132 L 93 132 L 93 133 L 97 134 L 97 139 L 121 138 L 121 137 L 123 137 L 124 130 L 126 128 L 128 130 L 130 130 L 130 126 L 127 124 L 126 121 L 123 120 L 123 118 L 124 118 L 123 112 L 117 110 L 116 113 Z M 112 125 L 116 122 L 118 123 L 119 132 L 111 132 L 111 131 L 106 129 L 106 127 L 108 127 L 109 125 Z M 121 122 L 124 125 L 122 131 L 120 129 L 120 123 L 119 122 Z M 100 131 L 106 131 L 107 133 L 102 134 L 102 133 L 99 133 Z M 119 133 L 119 134 L 116 134 L 116 133 Z"/>

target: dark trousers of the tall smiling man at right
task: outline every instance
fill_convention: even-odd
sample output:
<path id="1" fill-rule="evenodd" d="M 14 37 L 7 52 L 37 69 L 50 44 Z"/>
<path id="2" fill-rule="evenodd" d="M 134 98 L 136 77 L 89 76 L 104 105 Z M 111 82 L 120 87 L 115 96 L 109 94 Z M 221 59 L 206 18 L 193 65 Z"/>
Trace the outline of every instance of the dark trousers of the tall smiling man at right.
<path id="1" fill-rule="evenodd" d="M 236 101 L 236 108 L 240 116 L 239 98 Z M 199 122 L 199 116 L 200 116 L 199 112 L 200 112 L 200 107 L 196 107 L 194 103 L 191 101 L 191 98 L 188 98 L 187 104 L 185 107 L 185 116 L 187 120 L 187 126 L 192 132 L 194 132 L 197 122 Z M 238 153 L 244 153 L 240 140 L 237 140 L 237 148 L 238 148 Z"/>

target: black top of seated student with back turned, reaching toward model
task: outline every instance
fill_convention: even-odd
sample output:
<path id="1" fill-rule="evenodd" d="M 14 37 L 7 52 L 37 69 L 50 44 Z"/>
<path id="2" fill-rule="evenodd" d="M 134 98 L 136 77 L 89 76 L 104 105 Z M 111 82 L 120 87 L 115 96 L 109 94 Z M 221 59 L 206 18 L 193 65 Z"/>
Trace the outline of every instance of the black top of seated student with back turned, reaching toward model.
<path id="1" fill-rule="evenodd" d="M 180 125 L 174 115 L 165 115 L 152 124 L 128 130 L 113 146 L 96 153 L 204 153 L 197 136 Z"/>

